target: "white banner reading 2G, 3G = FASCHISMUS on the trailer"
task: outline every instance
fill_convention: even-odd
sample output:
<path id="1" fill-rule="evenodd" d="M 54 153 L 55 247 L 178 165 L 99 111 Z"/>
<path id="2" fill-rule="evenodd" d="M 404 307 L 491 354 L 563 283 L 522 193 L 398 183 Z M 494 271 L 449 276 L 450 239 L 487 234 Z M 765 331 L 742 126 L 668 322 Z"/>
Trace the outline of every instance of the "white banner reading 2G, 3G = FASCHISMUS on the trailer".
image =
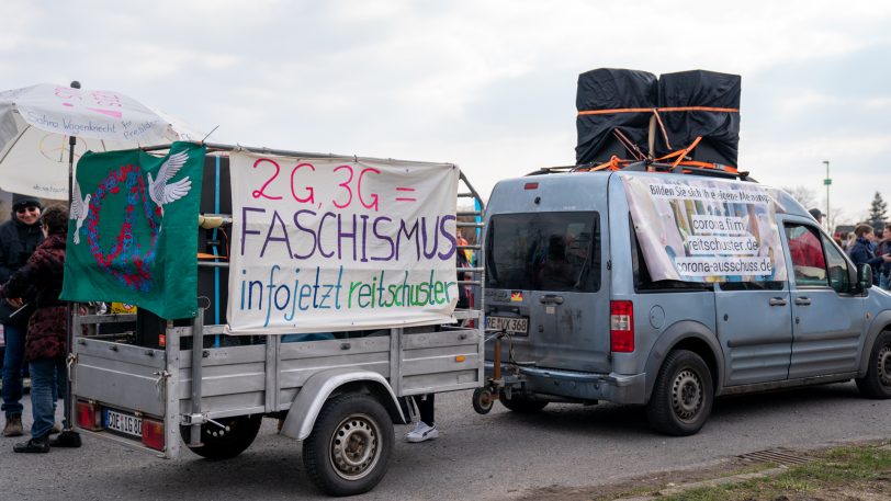
<path id="1" fill-rule="evenodd" d="M 230 171 L 229 332 L 451 321 L 455 166 L 238 151 Z"/>

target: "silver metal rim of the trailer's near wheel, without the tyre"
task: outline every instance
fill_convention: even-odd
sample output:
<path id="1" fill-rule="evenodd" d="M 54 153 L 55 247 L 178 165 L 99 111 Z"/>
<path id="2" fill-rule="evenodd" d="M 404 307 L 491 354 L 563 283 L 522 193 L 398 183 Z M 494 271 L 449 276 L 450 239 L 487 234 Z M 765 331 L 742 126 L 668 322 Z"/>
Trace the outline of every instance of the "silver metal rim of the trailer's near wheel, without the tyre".
<path id="1" fill-rule="evenodd" d="M 345 419 L 331 436 L 331 465 L 337 475 L 357 480 L 370 474 L 377 463 L 377 426 L 364 414 Z"/>

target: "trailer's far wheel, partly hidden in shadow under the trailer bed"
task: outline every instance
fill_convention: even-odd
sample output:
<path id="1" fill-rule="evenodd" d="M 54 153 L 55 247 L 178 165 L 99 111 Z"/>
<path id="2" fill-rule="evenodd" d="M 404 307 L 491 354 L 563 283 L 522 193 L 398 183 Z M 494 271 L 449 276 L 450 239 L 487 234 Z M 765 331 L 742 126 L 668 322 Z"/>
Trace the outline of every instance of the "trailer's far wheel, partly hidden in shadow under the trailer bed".
<path id="1" fill-rule="evenodd" d="M 253 414 L 216 420 L 226 426 L 225 429 L 214 423 L 204 423 L 201 425 L 201 442 L 204 445 L 189 448 L 207 459 L 230 459 L 250 446 L 257 437 L 257 432 L 260 431 L 262 419 L 262 414 Z M 183 442 L 190 432 L 190 426 L 180 426 Z"/>

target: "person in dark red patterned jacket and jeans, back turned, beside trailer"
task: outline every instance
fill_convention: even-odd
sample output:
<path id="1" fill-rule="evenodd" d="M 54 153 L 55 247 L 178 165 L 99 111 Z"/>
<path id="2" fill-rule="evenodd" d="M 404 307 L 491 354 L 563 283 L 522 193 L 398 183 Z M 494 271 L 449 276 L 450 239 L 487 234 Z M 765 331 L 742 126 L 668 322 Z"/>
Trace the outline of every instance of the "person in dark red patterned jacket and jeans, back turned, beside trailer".
<path id="1" fill-rule="evenodd" d="M 49 207 L 42 217 L 45 240 L 27 262 L 2 287 L 0 298 L 20 303 L 33 285 L 36 309 L 27 322 L 25 358 L 31 372 L 31 410 L 34 424 L 31 440 L 15 444 L 16 453 L 49 451 L 49 433 L 55 423 L 56 374 L 65 380 L 67 317 L 59 300 L 65 275 L 65 246 L 68 236 L 68 210 Z M 67 382 L 66 382 L 67 383 Z M 64 388 L 63 388 L 64 389 Z"/>

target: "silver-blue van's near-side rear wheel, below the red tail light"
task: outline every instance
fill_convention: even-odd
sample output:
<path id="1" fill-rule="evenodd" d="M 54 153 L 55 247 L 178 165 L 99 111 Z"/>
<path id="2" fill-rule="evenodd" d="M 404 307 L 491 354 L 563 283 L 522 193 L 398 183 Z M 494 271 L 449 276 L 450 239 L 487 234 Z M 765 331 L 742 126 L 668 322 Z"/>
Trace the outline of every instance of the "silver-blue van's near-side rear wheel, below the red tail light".
<path id="1" fill-rule="evenodd" d="M 676 350 L 662 364 L 646 405 L 646 418 L 651 426 L 667 435 L 692 435 L 709 419 L 713 400 L 714 387 L 706 362 L 693 352 Z"/>

